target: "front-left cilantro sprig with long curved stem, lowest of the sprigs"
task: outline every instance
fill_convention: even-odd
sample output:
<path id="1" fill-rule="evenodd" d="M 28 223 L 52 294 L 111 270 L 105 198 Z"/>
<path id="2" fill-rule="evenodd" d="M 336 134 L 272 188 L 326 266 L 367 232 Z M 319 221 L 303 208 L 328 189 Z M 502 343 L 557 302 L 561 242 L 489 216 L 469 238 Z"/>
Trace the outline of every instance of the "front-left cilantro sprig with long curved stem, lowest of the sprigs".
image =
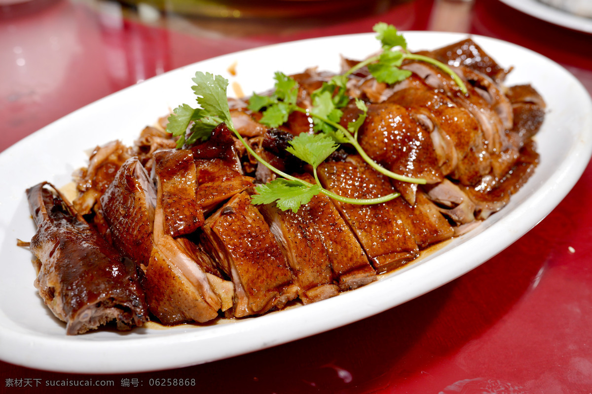
<path id="1" fill-rule="evenodd" d="M 236 128 L 234 128 L 227 99 L 228 80 L 224 79 L 224 77 L 202 73 L 201 71 L 195 73 L 195 77 L 192 80 L 195 82 L 192 90 L 197 95 L 197 103 L 200 105 L 200 108 L 192 108 L 187 104 L 180 105 L 169 116 L 169 123 L 166 129 L 172 135 L 179 136 L 177 147 L 181 148 L 185 143 L 190 144 L 191 141 L 195 142 L 198 139 L 208 139 L 215 126 L 222 122 L 226 123 L 226 126 L 234 133 L 252 157 L 269 168 L 269 170 L 283 177 L 277 178 L 267 184 L 258 185 L 255 188 L 258 194 L 252 196 L 253 204 L 268 204 L 276 201 L 279 209 L 291 209 L 295 212 L 302 204 L 308 203 L 318 193 L 326 194 L 331 198 L 350 204 L 378 204 L 400 196 L 399 193 L 391 193 L 378 198 L 347 198 L 323 188 L 318 181 L 317 167 L 333 153 L 337 145 L 334 144 L 332 139 L 320 134 L 296 136 L 290 142 L 291 146 L 287 149 L 313 167 L 316 184 L 308 183 L 278 170 L 278 168 L 260 157 L 244 141 L 244 138 Z M 276 86 L 279 89 L 276 90 L 275 97 L 273 97 L 274 102 L 285 103 L 286 106 L 291 106 L 292 103 L 295 105 L 295 93 L 298 91 L 297 86 L 292 81 L 291 79 L 284 78 L 281 73 L 276 74 Z M 294 87 L 296 87 L 295 91 L 293 90 Z M 222 97 L 224 97 L 224 100 L 222 100 Z M 266 101 L 266 105 L 269 105 L 268 101 Z M 276 112 L 272 112 L 271 115 L 276 113 L 282 113 L 281 108 Z M 283 116 L 287 117 L 288 115 L 286 113 L 282 113 L 278 118 L 283 119 Z M 185 139 L 188 129 L 189 137 Z"/>

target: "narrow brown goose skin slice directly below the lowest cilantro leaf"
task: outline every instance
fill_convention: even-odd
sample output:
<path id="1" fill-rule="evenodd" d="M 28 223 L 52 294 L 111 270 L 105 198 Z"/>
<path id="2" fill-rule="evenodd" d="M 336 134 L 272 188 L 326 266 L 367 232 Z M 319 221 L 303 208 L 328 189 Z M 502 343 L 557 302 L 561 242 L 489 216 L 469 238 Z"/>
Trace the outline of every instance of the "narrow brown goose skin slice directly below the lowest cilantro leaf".
<path id="1" fill-rule="evenodd" d="M 337 295 L 327 249 L 307 212 L 282 211 L 275 203 L 259 206 L 259 211 L 284 251 L 304 304 Z"/>

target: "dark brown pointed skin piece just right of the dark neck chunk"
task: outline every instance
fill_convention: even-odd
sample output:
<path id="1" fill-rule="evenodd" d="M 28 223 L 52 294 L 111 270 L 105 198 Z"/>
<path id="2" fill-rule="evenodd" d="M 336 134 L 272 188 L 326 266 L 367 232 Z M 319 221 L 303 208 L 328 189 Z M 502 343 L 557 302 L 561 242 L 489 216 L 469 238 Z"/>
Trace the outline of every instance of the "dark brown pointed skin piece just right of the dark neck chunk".
<path id="1" fill-rule="evenodd" d="M 101 214 L 112 243 L 138 265 L 148 265 L 156 190 L 136 157 L 126 160 L 101 196 Z"/>

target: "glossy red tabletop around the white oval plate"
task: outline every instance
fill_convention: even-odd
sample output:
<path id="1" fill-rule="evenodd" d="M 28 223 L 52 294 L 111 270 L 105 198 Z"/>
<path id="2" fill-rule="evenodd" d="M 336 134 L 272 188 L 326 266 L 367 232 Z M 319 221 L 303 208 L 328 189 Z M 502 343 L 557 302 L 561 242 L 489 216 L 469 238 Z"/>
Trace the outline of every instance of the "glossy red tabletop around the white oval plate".
<path id="1" fill-rule="evenodd" d="M 416 0 L 282 34 L 200 35 L 113 18 L 89 4 L 0 5 L 0 151 L 166 70 L 269 43 L 369 32 L 377 21 L 430 30 L 435 7 Z M 548 56 L 592 92 L 592 35 L 494 0 L 477 0 L 466 22 L 471 33 Z M 113 380 L 111 392 L 160 390 L 149 380 L 165 378 L 195 379 L 196 386 L 182 389 L 197 393 L 591 393 L 591 181 L 588 165 L 565 200 L 509 248 L 374 317 L 272 349 L 159 372 L 70 375 L 0 362 L 0 392 L 43 392 L 47 381 L 74 379 Z M 130 354 L 130 363 L 138 357 L 150 354 Z"/>

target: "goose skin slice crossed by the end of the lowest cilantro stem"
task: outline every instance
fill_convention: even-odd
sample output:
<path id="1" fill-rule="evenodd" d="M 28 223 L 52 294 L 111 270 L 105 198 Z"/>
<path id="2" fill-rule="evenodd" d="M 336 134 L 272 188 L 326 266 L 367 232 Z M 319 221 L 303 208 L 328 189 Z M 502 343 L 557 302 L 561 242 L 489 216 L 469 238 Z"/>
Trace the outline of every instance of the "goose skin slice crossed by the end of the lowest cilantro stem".
<path id="1" fill-rule="evenodd" d="M 350 156 L 349 162 L 324 162 L 318 168 L 323 186 L 349 198 L 375 198 L 394 192 L 378 172 Z M 387 203 L 354 205 L 335 201 L 378 273 L 417 257 L 419 249 L 396 210 Z"/>

